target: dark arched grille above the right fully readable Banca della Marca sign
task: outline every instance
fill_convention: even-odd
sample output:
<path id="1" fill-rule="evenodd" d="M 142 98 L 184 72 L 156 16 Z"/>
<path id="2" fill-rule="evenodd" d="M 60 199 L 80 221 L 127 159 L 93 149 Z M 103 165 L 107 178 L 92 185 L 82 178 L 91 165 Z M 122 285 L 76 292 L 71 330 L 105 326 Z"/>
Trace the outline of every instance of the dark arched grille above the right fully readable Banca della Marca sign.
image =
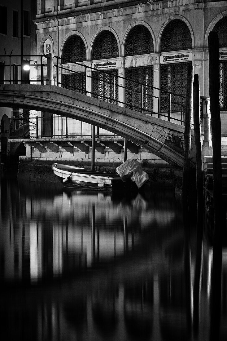
<path id="1" fill-rule="evenodd" d="M 187 25 L 179 19 L 170 21 L 162 35 L 161 52 L 188 48 L 192 48 L 192 36 Z"/>

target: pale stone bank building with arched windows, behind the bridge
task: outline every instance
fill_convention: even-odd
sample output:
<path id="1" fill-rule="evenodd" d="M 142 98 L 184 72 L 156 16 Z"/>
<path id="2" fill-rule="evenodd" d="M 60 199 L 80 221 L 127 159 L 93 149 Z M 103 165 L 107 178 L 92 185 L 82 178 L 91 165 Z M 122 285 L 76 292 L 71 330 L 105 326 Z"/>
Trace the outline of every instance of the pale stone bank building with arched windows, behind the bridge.
<path id="1" fill-rule="evenodd" d="M 170 120 L 171 115 L 182 125 L 186 74 L 191 66 L 199 75 L 202 103 L 209 99 L 208 35 L 216 31 L 222 135 L 227 134 L 227 1 L 40 0 L 36 5 L 34 54 L 40 56 L 34 68 L 37 84 L 45 84 L 45 56 L 52 54 L 51 84 L 165 120 Z M 201 113 L 209 112 L 207 104 Z M 42 112 L 30 110 L 30 122 L 30 137 L 91 137 L 90 124 L 67 120 L 45 108 Z M 201 123 L 203 126 L 203 115 Z M 98 137 L 112 134 L 98 127 L 95 133 Z M 73 146 L 68 143 L 64 143 L 65 148 L 63 143 L 55 144 L 54 153 L 45 144 L 39 143 L 37 148 L 30 144 L 26 156 L 89 161 L 89 152 L 78 153 L 75 146 L 72 152 Z M 103 152 L 102 148 L 103 155 L 97 154 L 96 159 L 104 163 L 109 150 Z M 123 146 L 120 156 L 112 155 L 112 159 L 121 163 L 122 151 Z M 138 160 L 150 158 L 137 152 Z M 152 160 L 153 164 L 162 163 L 158 157 Z"/>

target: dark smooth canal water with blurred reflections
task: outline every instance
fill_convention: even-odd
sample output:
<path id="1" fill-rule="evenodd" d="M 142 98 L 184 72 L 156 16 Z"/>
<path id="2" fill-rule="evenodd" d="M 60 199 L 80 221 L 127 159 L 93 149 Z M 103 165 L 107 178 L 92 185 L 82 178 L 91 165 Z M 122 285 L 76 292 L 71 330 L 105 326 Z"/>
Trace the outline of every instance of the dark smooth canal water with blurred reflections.
<path id="1" fill-rule="evenodd" d="M 211 313 L 213 249 L 204 234 L 196 274 L 194 214 L 187 233 L 173 189 L 111 194 L 2 174 L 0 196 L 1 340 L 227 339 L 227 249 Z"/>

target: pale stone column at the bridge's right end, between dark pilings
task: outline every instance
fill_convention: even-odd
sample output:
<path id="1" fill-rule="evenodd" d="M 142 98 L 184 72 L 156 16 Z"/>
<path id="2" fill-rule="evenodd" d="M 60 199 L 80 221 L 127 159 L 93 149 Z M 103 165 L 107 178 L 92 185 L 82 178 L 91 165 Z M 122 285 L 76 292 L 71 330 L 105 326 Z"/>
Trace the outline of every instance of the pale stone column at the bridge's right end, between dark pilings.
<path id="1" fill-rule="evenodd" d="M 204 136 L 202 143 L 202 155 L 212 156 L 212 141 L 211 141 L 211 130 L 210 130 L 210 99 L 202 98 L 202 111 L 203 111 L 203 126 Z"/>

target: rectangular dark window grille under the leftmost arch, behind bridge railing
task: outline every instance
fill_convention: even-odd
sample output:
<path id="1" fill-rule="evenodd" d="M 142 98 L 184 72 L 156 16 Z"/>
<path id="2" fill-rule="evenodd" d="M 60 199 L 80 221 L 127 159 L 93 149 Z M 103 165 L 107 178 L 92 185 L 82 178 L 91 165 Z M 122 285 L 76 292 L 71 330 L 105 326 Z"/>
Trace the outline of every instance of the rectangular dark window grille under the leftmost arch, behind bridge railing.
<path id="1" fill-rule="evenodd" d="M 62 75 L 62 87 L 79 93 L 84 93 L 85 73 Z"/>

